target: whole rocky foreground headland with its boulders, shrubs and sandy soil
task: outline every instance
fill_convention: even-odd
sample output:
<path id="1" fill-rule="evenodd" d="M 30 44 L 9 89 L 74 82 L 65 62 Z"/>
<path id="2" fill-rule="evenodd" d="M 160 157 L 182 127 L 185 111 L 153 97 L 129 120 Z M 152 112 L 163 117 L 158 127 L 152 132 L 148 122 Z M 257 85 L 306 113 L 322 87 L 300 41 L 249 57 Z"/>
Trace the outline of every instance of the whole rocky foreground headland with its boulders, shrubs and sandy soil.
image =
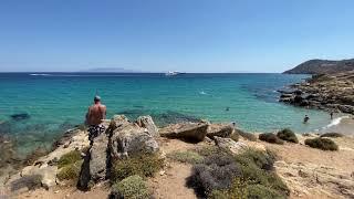
<path id="1" fill-rule="evenodd" d="M 232 124 L 158 128 L 150 116 L 104 125 L 92 143 L 84 129 L 69 130 L 56 149 L 2 178 L 0 198 L 354 197 L 353 137 L 284 129 L 263 139 Z"/>

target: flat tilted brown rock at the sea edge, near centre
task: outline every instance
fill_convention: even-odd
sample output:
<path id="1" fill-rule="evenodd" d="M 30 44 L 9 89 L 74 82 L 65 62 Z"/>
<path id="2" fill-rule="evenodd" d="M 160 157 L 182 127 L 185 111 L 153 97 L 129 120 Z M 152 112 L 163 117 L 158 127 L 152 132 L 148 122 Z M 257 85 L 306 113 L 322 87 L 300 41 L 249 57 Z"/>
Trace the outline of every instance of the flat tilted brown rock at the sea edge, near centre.
<path id="1" fill-rule="evenodd" d="M 169 125 L 159 132 L 162 137 L 202 142 L 207 135 L 207 128 L 206 123 L 181 123 Z"/>

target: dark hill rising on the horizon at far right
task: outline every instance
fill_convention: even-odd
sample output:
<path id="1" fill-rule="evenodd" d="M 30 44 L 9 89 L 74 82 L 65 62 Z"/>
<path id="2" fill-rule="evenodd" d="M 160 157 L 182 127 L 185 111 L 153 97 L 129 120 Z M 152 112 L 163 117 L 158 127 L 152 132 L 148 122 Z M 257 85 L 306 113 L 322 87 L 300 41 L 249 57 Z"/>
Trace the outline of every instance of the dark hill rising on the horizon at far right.
<path id="1" fill-rule="evenodd" d="M 284 74 L 329 74 L 354 70 L 354 59 L 351 60 L 309 60 Z"/>

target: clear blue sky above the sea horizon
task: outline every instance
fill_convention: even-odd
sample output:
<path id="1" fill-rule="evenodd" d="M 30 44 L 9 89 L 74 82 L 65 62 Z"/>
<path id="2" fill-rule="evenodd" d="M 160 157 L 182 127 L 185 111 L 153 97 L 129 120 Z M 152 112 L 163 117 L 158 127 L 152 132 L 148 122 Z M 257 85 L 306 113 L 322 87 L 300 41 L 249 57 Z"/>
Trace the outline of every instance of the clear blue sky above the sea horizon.
<path id="1" fill-rule="evenodd" d="M 282 72 L 354 57 L 354 0 L 1 0 L 0 71 Z"/>

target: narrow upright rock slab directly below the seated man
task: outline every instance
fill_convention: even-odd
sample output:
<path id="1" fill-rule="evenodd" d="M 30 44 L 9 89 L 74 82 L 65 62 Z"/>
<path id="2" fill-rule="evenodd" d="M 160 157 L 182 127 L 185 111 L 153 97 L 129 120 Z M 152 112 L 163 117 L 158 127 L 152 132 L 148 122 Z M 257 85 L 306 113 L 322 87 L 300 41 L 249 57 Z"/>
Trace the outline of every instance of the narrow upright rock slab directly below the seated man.
<path id="1" fill-rule="evenodd" d="M 90 175 L 94 181 L 106 178 L 108 137 L 101 134 L 93 139 L 90 148 Z"/>

